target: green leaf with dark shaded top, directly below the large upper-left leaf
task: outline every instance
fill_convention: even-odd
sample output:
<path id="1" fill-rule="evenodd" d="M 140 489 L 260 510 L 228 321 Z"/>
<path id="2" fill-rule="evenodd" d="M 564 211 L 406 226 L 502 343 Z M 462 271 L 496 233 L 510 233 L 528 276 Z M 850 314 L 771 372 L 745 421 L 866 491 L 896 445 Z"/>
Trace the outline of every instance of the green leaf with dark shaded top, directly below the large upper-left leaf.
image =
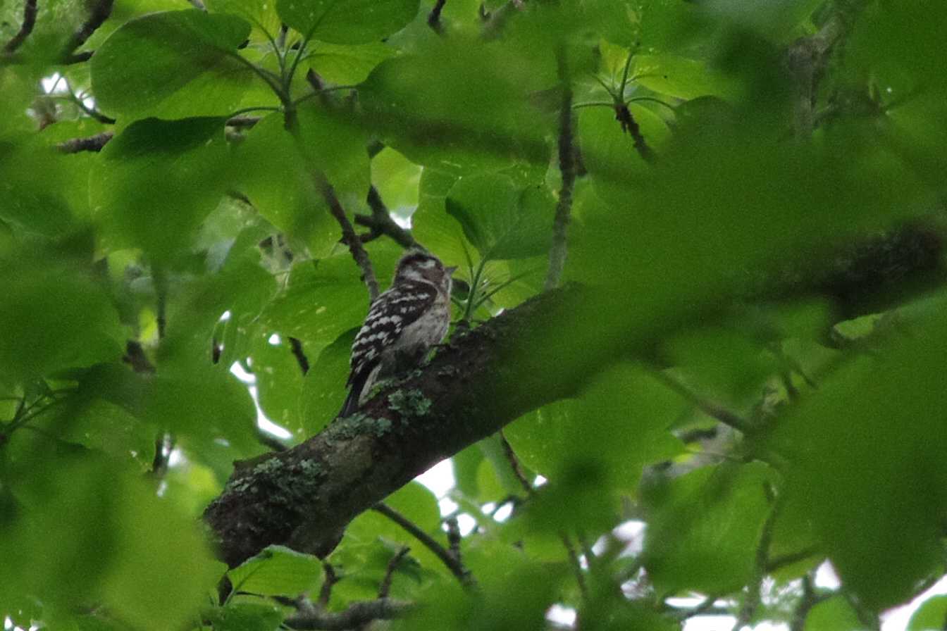
<path id="1" fill-rule="evenodd" d="M 90 176 L 105 247 L 139 247 L 159 261 L 183 254 L 223 196 L 227 165 L 221 118 L 135 121 Z"/>

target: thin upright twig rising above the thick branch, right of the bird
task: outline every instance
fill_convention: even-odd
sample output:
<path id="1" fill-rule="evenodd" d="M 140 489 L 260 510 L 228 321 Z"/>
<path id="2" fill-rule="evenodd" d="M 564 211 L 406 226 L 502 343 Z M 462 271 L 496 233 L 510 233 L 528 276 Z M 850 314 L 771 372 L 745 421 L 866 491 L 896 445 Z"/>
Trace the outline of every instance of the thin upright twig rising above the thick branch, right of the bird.
<path id="1" fill-rule="evenodd" d="M 559 68 L 560 89 L 563 93 L 559 108 L 559 170 L 563 176 L 563 185 L 559 190 L 556 218 L 552 223 L 549 270 L 545 276 L 544 289 L 546 291 L 559 287 L 563 279 L 567 253 L 565 236 L 572 213 L 572 188 L 576 183 L 576 165 L 572 147 L 572 83 L 569 79 L 564 46 L 556 51 L 556 62 Z"/>

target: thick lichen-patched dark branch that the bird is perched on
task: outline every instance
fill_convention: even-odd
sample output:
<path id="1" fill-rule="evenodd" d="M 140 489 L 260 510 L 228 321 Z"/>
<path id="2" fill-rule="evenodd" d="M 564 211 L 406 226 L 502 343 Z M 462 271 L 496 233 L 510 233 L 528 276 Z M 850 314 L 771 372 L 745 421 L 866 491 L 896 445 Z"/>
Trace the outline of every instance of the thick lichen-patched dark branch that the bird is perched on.
<path id="1" fill-rule="evenodd" d="M 777 279 L 759 295 L 825 296 L 849 316 L 857 305 L 884 302 L 882 294 L 904 300 L 903 286 L 935 272 L 938 282 L 944 276 L 938 232 L 914 232 L 915 238 L 900 234 L 893 241 L 906 247 L 901 256 L 891 252 L 892 241 L 871 248 L 875 259 L 887 261 L 874 267 L 900 279 L 893 285 L 884 273 L 864 276 L 849 269 L 868 265 L 866 250 L 843 257 L 845 265 L 808 284 L 798 277 Z M 915 246 L 927 252 L 920 255 Z M 922 284 L 919 290 L 926 289 Z M 641 313 L 634 296 L 576 286 L 548 291 L 456 335 L 427 366 L 367 401 L 361 413 L 336 419 L 299 446 L 238 463 L 205 511 L 223 560 L 237 565 L 273 543 L 331 552 L 352 518 L 432 465 L 524 412 L 576 394 L 610 362 L 644 352 L 729 305 L 719 293 L 695 293 L 677 298 L 683 303 Z"/>

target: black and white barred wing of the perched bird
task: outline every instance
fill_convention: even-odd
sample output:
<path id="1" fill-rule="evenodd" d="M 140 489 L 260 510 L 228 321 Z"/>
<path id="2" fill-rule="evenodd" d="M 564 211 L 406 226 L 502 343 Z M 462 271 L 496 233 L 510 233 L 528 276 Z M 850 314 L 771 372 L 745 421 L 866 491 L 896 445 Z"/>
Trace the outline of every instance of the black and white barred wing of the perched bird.
<path id="1" fill-rule="evenodd" d="M 352 344 L 347 386 L 371 372 L 384 351 L 398 342 L 404 328 L 431 308 L 437 293 L 428 283 L 402 282 L 375 299 Z"/>

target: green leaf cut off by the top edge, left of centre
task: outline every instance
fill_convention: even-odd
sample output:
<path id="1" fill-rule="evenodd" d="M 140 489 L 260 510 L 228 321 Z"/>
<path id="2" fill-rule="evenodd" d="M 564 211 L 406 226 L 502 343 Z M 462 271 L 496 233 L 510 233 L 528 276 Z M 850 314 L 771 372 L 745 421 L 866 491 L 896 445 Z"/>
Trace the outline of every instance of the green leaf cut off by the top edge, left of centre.
<path id="1" fill-rule="evenodd" d="M 419 0 L 277 0 L 277 11 L 300 33 L 331 44 L 366 44 L 401 30 Z"/>

